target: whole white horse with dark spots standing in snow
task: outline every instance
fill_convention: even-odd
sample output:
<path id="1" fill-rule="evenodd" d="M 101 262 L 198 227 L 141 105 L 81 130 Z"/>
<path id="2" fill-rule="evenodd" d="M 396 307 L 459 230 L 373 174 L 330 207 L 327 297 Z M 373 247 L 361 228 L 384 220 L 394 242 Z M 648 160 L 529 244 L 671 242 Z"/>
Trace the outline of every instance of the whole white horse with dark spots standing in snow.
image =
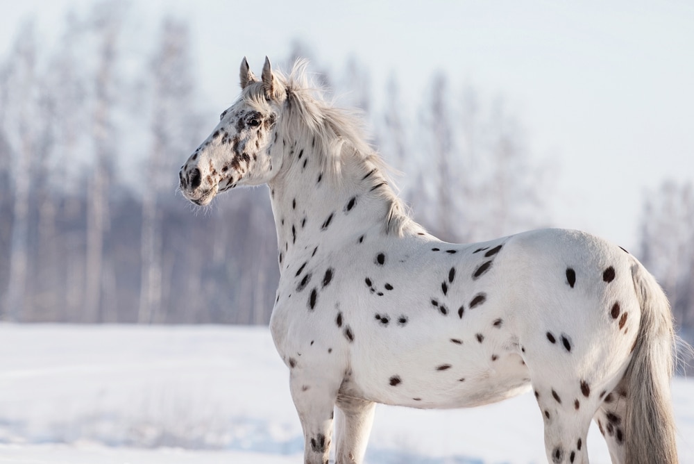
<path id="1" fill-rule="evenodd" d="M 198 205 L 269 186 L 280 282 L 270 321 L 305 463 L 361 463 L 376 403 L 460 408 L 534 390 L 550 463 L 588 463 L 595 420 L 613 463 L 676 463 L 668 301 L 628 254 L 545 229 L 456 245 L 391 188 L 359 122 L 305 66 L 257 79 L 180 169 Z"/>

